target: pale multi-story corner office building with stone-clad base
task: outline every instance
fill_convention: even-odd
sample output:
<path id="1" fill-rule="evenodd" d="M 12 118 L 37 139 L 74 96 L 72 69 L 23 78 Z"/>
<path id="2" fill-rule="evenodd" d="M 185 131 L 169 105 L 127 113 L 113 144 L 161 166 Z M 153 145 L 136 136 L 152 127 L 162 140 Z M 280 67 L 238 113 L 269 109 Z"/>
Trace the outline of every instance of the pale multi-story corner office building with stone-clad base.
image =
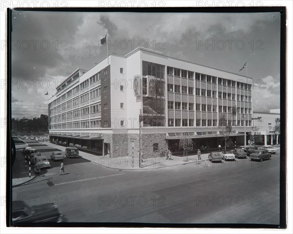
<path id="1" fill-rule="evenodd" d="M 57 87 L 49 99 L 50 139 L 110 157 L 138 156 L 140 139 L 144 157 L 168 148 L 175 153 L 185 135 L 194 142 L 189 150 L 213 149 L 224 145 L 218 127 L 224 115 L 233 126 L 229 144 L 244 145 L 251 84 L 251 78 L 139 47 L 77 69 Z"/>

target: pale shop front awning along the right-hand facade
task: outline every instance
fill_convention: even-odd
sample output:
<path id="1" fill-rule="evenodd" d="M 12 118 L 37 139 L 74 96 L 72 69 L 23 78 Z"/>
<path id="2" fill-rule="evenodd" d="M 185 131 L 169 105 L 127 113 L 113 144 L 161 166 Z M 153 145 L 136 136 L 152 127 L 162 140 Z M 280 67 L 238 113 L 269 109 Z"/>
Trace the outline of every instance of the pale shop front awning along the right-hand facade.
<path id="1" fill-rule="evenodd" d="M 182 137 L 189 138 L 202 138 L 202 137 L 222 137 L 223 131 L 202 131 L 202 132 L 181 132 L 181 133 L 167 133 L 166 139 L 180 139 Z M 231 131 L 230 136 L 241 136 L 242 133 L 238 133 L 237 131 Z"/>

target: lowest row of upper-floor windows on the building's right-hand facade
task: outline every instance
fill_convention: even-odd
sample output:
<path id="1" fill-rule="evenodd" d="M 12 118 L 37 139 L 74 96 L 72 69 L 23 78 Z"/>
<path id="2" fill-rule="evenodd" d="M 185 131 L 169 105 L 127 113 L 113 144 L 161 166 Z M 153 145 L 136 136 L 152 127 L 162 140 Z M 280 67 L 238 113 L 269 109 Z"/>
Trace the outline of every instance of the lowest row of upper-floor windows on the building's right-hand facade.
<path id="1" fill-rule="evenodd" d="M 227 120 L 228 124 L 232 124 L 233 126 L 236 126 L 236 120 Z M 226 124 L 227 124 L 226 123 Z M 218 120 L 217 119 L 196 119 L 196 127 L 217 127 L 218 126 Z M 221 123 L 222 124 L 222 123 Z M 251 126 L 251 120 L 237 120 L 237 126 Z M 187 118 L 169 118 L 168 119 L 168 126 L 169 127 L 188 127 L 188 126 L 194 126 L 194 119 L 187 119 Z"/>

